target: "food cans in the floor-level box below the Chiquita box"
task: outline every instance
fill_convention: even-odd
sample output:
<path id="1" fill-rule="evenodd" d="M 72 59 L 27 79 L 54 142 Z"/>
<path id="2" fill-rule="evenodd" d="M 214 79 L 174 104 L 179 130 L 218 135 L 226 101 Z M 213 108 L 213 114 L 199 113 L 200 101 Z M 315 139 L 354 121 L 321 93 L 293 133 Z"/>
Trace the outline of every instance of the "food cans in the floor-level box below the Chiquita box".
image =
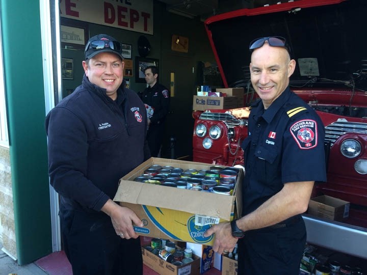
<path id="1" fill-rule="evenodd" d="M 169 240 L 153 238 L 145 249 L 176 266 L 193 261 L 191 249 L 180 249 Z"/>

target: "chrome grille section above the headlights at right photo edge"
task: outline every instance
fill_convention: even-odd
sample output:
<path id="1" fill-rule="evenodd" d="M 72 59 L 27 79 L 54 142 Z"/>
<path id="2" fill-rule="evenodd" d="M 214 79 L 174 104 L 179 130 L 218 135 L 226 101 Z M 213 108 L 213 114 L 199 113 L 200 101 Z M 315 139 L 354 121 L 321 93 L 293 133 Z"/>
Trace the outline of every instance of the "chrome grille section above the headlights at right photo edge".
<path id="1" fill-rule="evenodd" d="M 325 141 L 330 142 L 333 146 L 335 141 L 345 133 L 361 133 L 367 134 L 367 123 L 336 121 L 325 127 Z"/>

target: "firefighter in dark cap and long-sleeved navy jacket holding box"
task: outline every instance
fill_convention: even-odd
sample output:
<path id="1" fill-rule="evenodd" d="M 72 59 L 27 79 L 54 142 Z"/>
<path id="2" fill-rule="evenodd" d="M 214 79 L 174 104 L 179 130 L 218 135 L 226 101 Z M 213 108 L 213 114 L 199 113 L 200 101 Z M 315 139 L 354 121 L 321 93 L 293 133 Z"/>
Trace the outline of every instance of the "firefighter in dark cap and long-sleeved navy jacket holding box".
<path id="1" fill-rule="evenodd" d="M 121 50 L 111 36 L 90 38 L 82 85 L 46 117 L 50 184 L 74 275 L 143 274 L 133 228 L 142 222 L 113 201 L 119 179 L 150 157 L 145 106 L 125 88 Z"/>

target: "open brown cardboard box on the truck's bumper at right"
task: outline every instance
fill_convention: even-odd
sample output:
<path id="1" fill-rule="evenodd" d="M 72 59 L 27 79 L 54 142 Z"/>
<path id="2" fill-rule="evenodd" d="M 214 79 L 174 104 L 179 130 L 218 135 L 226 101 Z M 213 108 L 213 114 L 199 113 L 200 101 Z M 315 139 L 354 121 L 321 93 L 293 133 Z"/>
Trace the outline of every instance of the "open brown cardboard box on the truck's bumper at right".
<path id="1" fill-rule="evenodd" d="M 333 221 L 343 221 L 349 216 L 350 203 L 330 196 L 311 198 L 308 203 L 308 214 Z"/>

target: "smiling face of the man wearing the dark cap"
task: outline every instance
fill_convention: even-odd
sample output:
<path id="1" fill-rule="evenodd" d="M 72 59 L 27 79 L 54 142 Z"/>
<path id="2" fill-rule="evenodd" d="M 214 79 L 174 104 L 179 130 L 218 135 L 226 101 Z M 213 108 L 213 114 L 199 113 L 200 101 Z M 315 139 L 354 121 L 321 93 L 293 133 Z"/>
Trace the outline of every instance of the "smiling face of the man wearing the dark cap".
<path id="1" fill-rule="evenodd" d="M 117 98 L 117 89 L 123 80 L 123 61 L 115 53 L 101 52 L 88 62 L 83 61 L 83 68 L 89 81 L 100 88 L 113 100 Z"/>

